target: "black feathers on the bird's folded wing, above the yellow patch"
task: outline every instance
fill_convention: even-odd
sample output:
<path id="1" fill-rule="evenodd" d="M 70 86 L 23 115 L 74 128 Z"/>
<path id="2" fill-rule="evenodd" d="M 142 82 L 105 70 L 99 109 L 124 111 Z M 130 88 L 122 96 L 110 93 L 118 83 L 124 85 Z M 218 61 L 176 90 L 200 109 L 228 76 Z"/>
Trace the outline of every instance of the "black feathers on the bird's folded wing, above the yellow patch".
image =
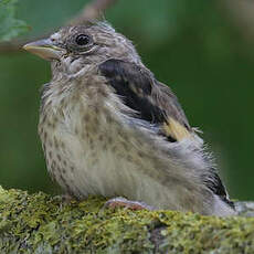
<path id="1" fill-rule="evenodd" d="M 151 95 L 152 80 L 149 73 L 120 60 L 108 60 L 99 65 L 105 75 L 119 95 L 125 105 L 139 113 L 139 117 L 151 124 L 166 120 L 166 113 L 148 99 Z"/>

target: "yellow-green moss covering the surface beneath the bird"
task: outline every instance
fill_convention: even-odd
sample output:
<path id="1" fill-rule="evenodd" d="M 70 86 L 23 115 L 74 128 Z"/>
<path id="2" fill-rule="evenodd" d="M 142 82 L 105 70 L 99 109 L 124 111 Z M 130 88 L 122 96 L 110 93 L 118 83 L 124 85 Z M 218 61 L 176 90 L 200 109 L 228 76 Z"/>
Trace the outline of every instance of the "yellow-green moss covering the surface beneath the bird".
<path id="1" fill-rule="evenodd" d="M 0 253 L 254 253 L 254 218 L 104 209 L 0 188 Z"/>

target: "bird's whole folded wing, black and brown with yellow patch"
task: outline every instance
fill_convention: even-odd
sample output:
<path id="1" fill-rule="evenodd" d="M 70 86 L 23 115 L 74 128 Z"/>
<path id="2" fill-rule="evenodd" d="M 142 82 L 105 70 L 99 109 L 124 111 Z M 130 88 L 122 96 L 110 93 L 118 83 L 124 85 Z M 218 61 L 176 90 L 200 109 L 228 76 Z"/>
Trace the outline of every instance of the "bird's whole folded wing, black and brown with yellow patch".
<path id="1" fill-rule="evenodd" d="M 179 141 L 192 135 L 177 97 L 147 68 L 114 59 L 102 63 L 98 68 L 124 104 L 137 112 L 138 118 L 158 125 L 168 140 Z"/>

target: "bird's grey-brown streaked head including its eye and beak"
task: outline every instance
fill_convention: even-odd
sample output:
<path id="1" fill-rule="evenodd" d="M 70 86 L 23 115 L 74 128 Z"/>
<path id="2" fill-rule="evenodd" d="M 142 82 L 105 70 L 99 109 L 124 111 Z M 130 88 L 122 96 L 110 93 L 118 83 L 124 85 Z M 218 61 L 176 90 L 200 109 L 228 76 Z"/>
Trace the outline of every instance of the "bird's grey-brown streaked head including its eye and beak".
<path id="1" fill-rule="evenodd" d="M 106 22 L 66 27 L 23 47 L 51 61 L 53 66 L 67 74 L 75 74 L 84 65 L 99 64 L 108 59 L 140 62 L 131 42 Z"/>

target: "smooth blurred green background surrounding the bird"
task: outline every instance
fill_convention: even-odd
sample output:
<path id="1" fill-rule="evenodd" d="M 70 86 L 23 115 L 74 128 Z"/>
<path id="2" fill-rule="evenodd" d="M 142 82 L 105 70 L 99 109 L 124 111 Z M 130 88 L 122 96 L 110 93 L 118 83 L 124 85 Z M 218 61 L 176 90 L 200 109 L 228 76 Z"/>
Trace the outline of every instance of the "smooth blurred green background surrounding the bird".
<path id="1" fill-rule="evenodd" d="M 46 33 L 84 0 L 22 0 L 18 18 Z M 233 199 L 254 200 L 254 40 L 222 1 L 119 0 L 105 17 L 134 41 L 145 64 L 171 86 L 214 152 Z M 232 22 L 233 21 L 233 22 Z M 36 134 L 39 89 L 50 64 L 27 52 L 0 54 L 0 184 L 55 192 Z"/>

